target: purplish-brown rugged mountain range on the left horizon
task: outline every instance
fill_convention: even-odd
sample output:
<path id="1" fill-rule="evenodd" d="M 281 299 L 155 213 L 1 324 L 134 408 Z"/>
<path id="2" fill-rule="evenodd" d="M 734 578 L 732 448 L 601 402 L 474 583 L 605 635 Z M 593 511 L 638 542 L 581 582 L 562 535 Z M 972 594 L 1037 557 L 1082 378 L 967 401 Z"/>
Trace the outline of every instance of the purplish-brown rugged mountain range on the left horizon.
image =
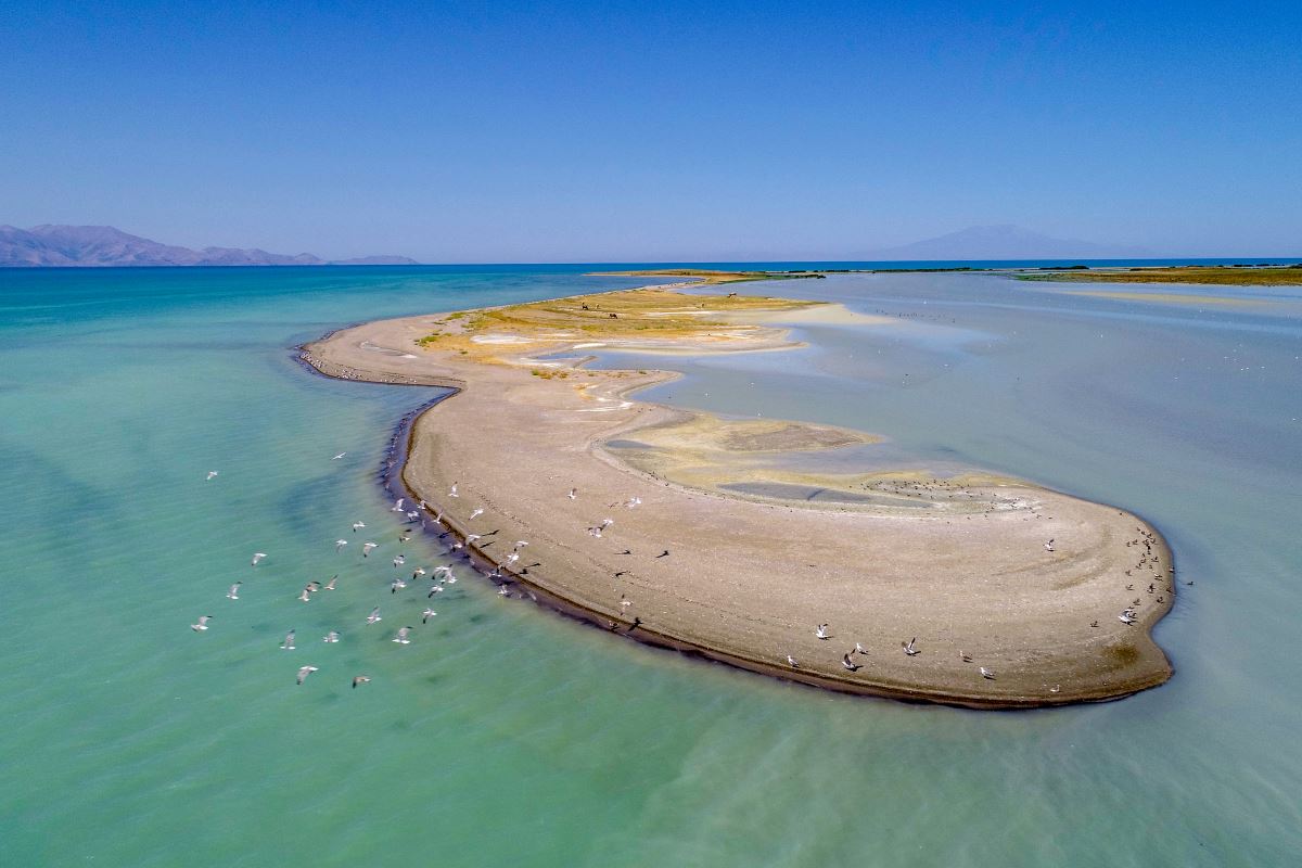
<path id="1" fill-rule="evenodd" d="M 0 226 L 0 267 L 43 265 L 415 265 L 406 256 L 326 260 L 311 254 L 270 254 L 241 247 L 190 250 L 132 236 L 113 226 Z"/>

